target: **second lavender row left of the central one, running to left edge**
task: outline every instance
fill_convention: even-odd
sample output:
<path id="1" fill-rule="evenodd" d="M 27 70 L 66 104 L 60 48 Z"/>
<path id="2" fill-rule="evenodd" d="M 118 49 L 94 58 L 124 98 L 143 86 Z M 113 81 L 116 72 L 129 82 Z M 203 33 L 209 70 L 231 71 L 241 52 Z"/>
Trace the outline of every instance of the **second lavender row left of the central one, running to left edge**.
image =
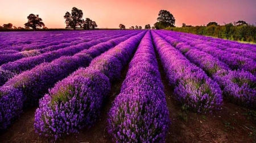
<path id="1" fill-rule="evenodd" d="M 64 79 L 79 67 L 87 67 L 94 57 L 138 33 L 141 32 L 131 32 L 102 42 L 72 57 L 61 57 L 51 63 L 42 63 L 30 71 L 14 76 L 0 88 L 0 129 L 10 125 L 24 107 L 38 104 L 39 98 L 57 81 Z"/>

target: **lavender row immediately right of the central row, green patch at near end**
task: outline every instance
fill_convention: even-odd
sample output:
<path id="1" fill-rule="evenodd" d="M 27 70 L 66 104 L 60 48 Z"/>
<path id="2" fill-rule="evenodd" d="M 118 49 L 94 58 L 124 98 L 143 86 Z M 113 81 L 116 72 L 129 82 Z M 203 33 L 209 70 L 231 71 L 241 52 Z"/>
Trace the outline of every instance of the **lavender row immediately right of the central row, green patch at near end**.
<path id="1" fill-rule="evenodd" d="M 152 32 L 152 36 L 167 79 L 174 86 L 175 99 L 197 112 L 219 110 L 222 105 L 220 86 L 158 34 Z"/>

